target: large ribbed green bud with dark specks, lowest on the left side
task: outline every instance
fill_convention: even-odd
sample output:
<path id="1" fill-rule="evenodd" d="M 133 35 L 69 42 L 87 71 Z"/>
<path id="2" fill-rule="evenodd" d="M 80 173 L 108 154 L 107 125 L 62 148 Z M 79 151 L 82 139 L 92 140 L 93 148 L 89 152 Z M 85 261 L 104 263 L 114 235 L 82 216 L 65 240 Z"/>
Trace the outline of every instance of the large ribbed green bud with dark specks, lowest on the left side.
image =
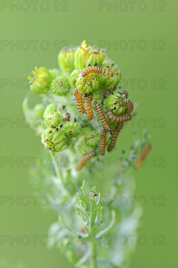
<path id="1" fill-rule="evenodd" d="M 41 135 L 41 142 L 45 148 L 55 152 L 62 150 L 65 139 L 65 135 L 58 128 L 47 128 Z"/>

